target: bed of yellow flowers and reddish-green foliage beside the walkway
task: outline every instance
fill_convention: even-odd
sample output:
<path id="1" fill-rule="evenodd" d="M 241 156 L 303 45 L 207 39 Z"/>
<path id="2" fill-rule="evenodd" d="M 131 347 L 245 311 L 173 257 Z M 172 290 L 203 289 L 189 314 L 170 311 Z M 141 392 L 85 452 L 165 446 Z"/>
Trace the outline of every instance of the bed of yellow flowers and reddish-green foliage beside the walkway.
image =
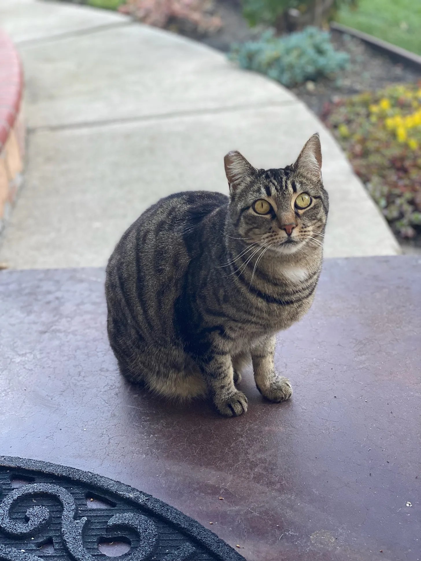
<path id="1" fill-rule="evenodd" d="M 340 100 L 324 119 L 393 230 L 421 240 L 421 82 Z"/>

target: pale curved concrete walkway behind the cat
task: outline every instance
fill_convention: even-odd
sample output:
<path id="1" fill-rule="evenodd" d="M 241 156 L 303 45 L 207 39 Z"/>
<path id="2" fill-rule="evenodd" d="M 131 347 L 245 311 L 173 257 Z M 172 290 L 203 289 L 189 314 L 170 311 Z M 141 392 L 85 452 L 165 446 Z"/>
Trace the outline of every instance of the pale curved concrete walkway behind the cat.
<path id="1" fill-rule="evenodd" d="M 0 241 L 12 268 L 102 266 L 159 197 L 227 192 L 227 151 L 281 167 L 315 131 L 331 198 L 326 256 L 400 251 L 330 133 L 278 84 L 113 12 L 2 0 L 0 22 L 24 63 L 29 127 L 25 185 Z"/>

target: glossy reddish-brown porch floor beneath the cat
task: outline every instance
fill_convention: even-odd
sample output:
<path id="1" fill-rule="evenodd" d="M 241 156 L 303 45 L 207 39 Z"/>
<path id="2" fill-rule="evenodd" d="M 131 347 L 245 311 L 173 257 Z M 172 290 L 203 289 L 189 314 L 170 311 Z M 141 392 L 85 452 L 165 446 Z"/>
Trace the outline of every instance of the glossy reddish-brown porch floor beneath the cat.
<path id="1" fill-rule="evenodd" d="M 249 561 L 421 558 L 419 257 L 326 261 L 312 310 L 278 337 L 294 396 L 264 402 L 249 371 L 237 419 L 120 378 L 103 278 L 0 273 L 0 454 L 133 485 Z"/>

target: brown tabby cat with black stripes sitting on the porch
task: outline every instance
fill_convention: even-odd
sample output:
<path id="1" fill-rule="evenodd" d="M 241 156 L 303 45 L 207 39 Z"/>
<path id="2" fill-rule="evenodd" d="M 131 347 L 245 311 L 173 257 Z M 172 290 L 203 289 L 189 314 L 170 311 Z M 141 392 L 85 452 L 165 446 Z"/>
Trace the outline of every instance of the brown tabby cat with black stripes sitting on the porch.
<path id="1" fill-rule="evenodd" d="M 123 375 L 170 398 L 207 395 L 236 416 L 251 358 L 265 398 L 291 397 L 275 335 L 313 302 L 328 213 L 321 166 L 317 134 L 286 168 L 255 169 L 233 151 L 230 197 L 181 192 L 141 214 L 107 266 L 108 336 Z"/>

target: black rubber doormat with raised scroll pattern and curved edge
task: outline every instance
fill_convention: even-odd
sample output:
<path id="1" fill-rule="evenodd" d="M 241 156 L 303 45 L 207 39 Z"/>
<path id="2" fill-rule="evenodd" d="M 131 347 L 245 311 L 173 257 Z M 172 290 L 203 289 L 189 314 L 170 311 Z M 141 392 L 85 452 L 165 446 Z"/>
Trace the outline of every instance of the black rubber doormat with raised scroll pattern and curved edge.
<path id="1" fill-rule="evenodd" d="M 0 561 L 244 561 L 170 505 L 71 467 L 0 456 Z"/>

